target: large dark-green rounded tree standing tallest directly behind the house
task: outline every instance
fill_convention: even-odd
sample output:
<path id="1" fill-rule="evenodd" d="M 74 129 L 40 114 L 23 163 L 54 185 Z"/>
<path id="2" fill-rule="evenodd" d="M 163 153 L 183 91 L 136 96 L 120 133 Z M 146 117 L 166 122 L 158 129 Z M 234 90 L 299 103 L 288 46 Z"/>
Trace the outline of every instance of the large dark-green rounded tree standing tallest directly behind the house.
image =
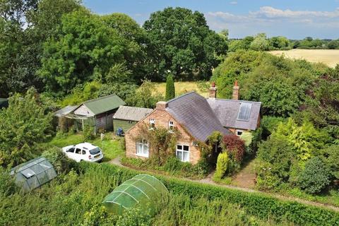
<path id="1" fill-rule="evenodd" d="M 147 32 L 153 73 L 159 79 L 167 71 L 174 76 L 200 72 L 208 78 L 219 60 L 226 54 L 225 40 L 208 28 L 206 19 L 198 11 L 186 8 L 165 8 L 150 15 L 143 28 Z"/>

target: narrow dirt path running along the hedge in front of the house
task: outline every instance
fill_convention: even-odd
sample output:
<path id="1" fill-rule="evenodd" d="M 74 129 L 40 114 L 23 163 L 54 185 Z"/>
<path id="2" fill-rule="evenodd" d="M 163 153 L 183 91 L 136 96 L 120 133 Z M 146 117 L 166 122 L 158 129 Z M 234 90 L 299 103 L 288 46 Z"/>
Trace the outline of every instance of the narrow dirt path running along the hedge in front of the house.
<path id="1" fill-rule="evenodd" d="M 113 165 L 117 165 L 119 167 L 124 167 L 124 168 L 132 169 L 130 167 L 126 167 L 126 166 L 122 165 L 120 160 L 121 160 L 121 157 L 116 157 L 114 160 L 109 161 L 109 163 L 113 164 Z M 251 165 L 251 167 L 253 167 L 253 165 Z M 161 174 L 160 172 L 155 173 L 155 172 L 150 172 L 148 170 L 140 170 L 140 169 L 138 169 L 138 171 L 146 172 L 146 173 L 150 173 L 150 174 L 159 174 L 162 177 L 178 179 L 177 177 L 170 177 L 168 175 Z M 331 210 L 335 210 L 336 212 L 339 212 L 339 207 L 333 206 L 331 204 L 317 203 L 317 202 L 314 202 L 314 201 L 307 201 L 307 200 L 304 200 L 302 198 L 283 196 L 283 195 L 280 195 L 280 194 L 271 194 L 271 193 L 267 193 L 267 192 L 263 192 L 263 191 L 257 191 L 257 190 L 246 188 L 246 187 L 240 187 L 240 186 L 234 186 L 234 185 L 225 185 L 225 184 L 217 184 L 217 183 L 213 182 L 213 180 L 212 180 L 213 174 L 214 174 L 214 172 L 208 174 L 208 177 L 206 177 L 204 179 L 200 179 L 200 180 L 188 179 L 188 178 L 184 178 L 184 177 L 179 178 L 179 179 L 183 179 L 183 180 L 186 180 L 186 181 L 189 181 L 189 182 L 196 182 L 196 183 L 201 183 L 201 184 L 210 184 L 210 185 L 213 185 L 213 186 L 225 187 L 227 189 L 235 189 L 235 190 L 238 190 L 238 191 L 246 191 L 246 192 L 257 193 L 257 194 L 265 194 L 265 195 L 271 196 L 273 198 L 278 198 L 278 199 L 280 199 L 282 201 L 295 201 L 295 202 L 298 202 L 298 203 L 307 204 L 309 206 L 323 207 L 323 208 L 328 208 L 328 209 L 331 209 Z M 244 177 L 244 176 L 239 176 L 238 178 L 240 179 L 241 177 Z"/>

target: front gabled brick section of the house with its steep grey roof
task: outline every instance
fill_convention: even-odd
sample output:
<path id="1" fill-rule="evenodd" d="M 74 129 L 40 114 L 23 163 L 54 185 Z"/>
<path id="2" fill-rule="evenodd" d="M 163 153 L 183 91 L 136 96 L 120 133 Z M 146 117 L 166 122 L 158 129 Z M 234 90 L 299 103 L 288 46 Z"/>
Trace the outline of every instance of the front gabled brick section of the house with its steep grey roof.
<path id="1" fill-rule="evenodd" d="M 206 98 L 194 92 L 186 93 L 168 102 L 157 102 L 153 112 L 126 131 L 126 157 L 149 157 L 152 147 L 148 141 L 136 140 L 142 123 L 150 128 L 162 126 L 170 130 L 175 127 L 180 133 L 176 155 L 179 160 L 192 164 L 196 164 L 201 157 L 197 141 L 206 142 L 214 131 L 230 134 L 220 124 Z"/>

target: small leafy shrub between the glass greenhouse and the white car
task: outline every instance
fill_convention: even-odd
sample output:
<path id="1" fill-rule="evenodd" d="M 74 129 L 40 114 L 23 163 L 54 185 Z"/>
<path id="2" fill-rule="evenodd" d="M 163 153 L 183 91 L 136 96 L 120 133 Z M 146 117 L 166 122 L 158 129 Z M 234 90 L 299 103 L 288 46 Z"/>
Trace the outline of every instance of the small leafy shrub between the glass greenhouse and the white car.
<path id="1" fill-rule="evenodd" d="M 52 163 L 58 174 L 69 172 L 71 169 L 71 160 L 66 157 L 65 153 L 63 153 L 60 148 L 47 148 L 47 150 L 44 150 L 42 153 L 42 156 L 46 157 L 47 160 Z"/>

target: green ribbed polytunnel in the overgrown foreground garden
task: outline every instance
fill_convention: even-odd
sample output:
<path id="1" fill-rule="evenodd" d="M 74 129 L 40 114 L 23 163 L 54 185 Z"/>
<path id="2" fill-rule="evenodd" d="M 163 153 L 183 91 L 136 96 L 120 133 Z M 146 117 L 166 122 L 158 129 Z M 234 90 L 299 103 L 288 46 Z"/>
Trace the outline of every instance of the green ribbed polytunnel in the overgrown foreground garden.
<path id="1" fill-rule="evenodd" d="M 166 186 L 158 179 L 148 174 L 139 174 L 117 186 L 104 198 L 103 204 L 116 214 L 122 214 L 125 209 L 137 204 L 152 210 L 158 198 L 167 194 Z"/>

